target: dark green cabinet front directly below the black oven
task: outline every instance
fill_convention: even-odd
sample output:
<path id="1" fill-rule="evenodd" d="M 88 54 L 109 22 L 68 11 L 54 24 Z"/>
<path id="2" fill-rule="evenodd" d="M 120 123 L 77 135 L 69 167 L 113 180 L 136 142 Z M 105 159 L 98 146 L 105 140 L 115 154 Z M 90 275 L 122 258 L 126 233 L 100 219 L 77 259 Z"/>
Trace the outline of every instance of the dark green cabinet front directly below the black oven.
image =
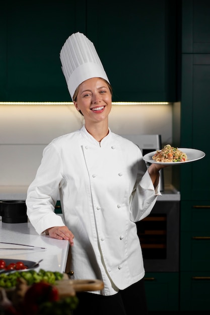
<path id="1" fill-rule="evenodd" d="M 178 310 L 178 272 L 147 273 L 145 276 L 145 288 L 150 311 Z"/>

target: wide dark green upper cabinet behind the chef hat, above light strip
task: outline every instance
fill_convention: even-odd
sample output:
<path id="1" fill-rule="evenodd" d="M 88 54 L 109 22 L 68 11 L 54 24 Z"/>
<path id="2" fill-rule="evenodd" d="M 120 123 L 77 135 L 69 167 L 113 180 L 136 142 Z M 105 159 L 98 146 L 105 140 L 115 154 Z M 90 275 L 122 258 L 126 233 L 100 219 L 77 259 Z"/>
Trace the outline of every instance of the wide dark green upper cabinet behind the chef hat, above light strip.
<path id="1" fill-rule="evenodd" d="M 94 42 L 113 87 L 113 101 L 177 101 L 178 3 L 5 2 L 0 101 L 71 101 L 59 52 L 78 31 Z"/>

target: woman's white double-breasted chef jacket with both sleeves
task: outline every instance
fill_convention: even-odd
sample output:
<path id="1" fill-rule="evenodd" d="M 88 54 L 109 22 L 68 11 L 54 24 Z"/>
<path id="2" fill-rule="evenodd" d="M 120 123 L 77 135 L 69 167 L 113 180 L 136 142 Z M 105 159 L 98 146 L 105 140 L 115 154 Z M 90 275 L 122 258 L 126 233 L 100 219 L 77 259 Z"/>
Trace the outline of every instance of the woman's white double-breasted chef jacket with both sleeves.
<path id="1" fill-rule="evenodd" d="M 109 129 L 99 143 L 83 126 L 54 139 L 27 194 L 27 214 L 38 233 L 66 225 L 75 235 L 75 279 L 101 279 L 112 295 L 145 275 L 134 222 L 152 210 L 154 189 L 141 150 Z M 63 220 L 54 213 L 58 188 Z"/>

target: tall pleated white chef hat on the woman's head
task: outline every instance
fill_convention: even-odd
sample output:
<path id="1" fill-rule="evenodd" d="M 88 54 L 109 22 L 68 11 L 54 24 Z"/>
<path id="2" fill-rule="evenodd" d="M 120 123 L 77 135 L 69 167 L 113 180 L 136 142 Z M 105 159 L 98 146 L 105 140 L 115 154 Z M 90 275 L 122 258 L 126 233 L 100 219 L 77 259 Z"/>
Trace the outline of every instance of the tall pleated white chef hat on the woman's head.
<path id="1" fill-rule="evenodd" d="M 82 33 L 66 39 L 60 61 L 72 99 L 77 87 L 91 77 L 102 77 L 109 82 L 93 43 Z"/>

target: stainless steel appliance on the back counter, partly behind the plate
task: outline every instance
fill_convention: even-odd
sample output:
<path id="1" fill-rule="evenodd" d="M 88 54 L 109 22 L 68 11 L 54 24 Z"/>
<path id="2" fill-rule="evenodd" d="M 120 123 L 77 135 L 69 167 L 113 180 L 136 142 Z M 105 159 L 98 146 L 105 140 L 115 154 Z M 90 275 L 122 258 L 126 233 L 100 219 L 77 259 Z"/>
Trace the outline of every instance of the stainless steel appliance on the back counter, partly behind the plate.
<path id="1" fill-rule="evenodd" d="M 160 150 L 162 148 L 160 134 L 121 134 L 121 136 L 135 143 L 139 147 L 139 149 L 141 149 L 143 155 L 152 151 Z M 150 166 L 149 163 L 146 163 L 146 165 L 147 167 Z M 160 184 L 161 191 L 163 191 L 164 190 L 163 170 L 160 171 Z"/>

